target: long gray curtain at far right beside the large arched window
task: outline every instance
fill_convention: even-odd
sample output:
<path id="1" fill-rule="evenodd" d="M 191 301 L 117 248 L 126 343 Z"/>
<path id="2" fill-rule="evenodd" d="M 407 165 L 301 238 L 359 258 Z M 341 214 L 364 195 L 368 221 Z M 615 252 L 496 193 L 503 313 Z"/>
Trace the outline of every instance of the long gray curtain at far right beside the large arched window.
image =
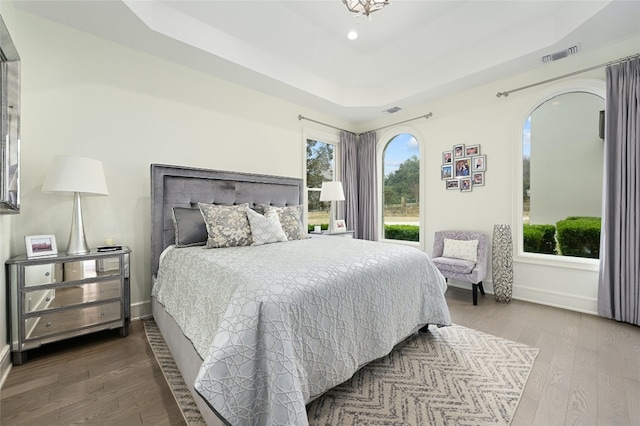
<path id="1" fill-rule="evenodd" d="M 640 325 L 640 58 L 607 67 L 598 314 Z"/>

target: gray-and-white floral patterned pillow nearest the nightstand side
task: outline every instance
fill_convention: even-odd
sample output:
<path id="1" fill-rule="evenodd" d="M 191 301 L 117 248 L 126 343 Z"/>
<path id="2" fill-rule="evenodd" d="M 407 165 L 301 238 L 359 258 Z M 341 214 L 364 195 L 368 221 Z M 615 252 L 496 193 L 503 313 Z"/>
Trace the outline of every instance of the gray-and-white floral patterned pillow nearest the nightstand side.
<path id="1" fill-rule="evenodd" d="M 247 203 L 236 206 L 198 203 L 207 226 L 207 248 L 251 245 L 248 206 Z"/>

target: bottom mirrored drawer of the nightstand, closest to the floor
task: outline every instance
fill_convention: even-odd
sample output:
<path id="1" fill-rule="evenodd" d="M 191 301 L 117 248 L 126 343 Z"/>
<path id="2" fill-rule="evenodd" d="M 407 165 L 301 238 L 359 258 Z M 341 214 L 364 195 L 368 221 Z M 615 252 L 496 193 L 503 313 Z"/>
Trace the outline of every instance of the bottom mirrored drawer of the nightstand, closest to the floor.
<path id="1" fill-rule="evenodd" d="M 28 318 L 24 320 L 24 325 L 26 328 L 33 326 L 33 330 L 27 335 L 29 340 L 119 319 L 122 319 L 122 304 L 111 302 Z"/>

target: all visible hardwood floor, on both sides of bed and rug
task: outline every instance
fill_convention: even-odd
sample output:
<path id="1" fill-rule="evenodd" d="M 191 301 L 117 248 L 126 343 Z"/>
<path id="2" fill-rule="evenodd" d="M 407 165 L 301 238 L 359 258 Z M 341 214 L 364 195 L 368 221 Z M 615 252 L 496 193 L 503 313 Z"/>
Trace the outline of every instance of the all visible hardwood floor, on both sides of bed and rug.
<path id="1" fill-rule="evenodd" d="M 453 321 L 540 349 L 513 421 L 640 425 L 640 327 L 450 288 Z M 184 425 L 142 323 L 29 352 L 0 390 L 4 425 Z"/>

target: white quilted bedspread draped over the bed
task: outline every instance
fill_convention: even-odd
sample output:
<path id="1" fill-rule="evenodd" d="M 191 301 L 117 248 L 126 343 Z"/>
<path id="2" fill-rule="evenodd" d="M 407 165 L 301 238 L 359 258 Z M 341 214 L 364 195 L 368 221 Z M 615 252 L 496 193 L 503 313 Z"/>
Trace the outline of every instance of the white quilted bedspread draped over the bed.
<path id="1" fill-rule="evenodd" d="M 196 390 L 232 425 L 306 425 L 305 404 L 449 325 L 422 251 L 340 237 L 168 251 L 153 289 L 204 359 Z"/>

